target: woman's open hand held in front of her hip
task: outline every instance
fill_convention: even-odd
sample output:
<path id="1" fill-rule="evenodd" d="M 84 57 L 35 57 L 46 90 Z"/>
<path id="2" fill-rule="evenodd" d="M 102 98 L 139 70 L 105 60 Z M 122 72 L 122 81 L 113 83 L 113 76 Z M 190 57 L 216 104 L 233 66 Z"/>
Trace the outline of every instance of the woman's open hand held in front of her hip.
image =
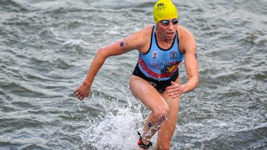
<path id="1" fill-rule="evenodd" d="M 168 86 L 166 88 L 166 93 L 168 93 L 168 96 L 172 97 L 172 99 L 175 99 L 176 97 L 180 97 L 181 94 L 184 93 L 184 85 L 180 85 L 175 82 L 171 82 L 172 85 Z"/>

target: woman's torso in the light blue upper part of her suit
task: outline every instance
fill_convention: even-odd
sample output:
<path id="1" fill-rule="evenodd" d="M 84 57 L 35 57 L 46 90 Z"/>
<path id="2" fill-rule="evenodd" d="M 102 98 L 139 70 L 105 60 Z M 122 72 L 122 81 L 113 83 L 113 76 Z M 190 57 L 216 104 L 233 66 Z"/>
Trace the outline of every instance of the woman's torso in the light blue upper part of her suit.
<path id="1" fill-rule="evenodd" d="M 156 26 L 150 30 L 150 43 L 139 53 L 138 67 L 145 76 L 158 81 L 170 79 L 177 72 L 179 63 L 184 59 L 184 53 L 179 49 L 179 37 L 176 33 L 170 47 L 159 44 L 156 38 Z M 148 43 L 148 42 L 147 42 Z"/>

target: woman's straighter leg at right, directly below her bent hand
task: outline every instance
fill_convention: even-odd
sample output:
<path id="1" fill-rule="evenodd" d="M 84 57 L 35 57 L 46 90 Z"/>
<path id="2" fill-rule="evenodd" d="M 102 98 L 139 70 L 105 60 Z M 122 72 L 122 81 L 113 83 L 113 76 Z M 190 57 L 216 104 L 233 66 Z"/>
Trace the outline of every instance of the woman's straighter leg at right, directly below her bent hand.
<path id="1" fill-rule="evenodd" d="M 172 135 L 175 132 L 180 98 L 177 97 L 172 99 L 171 97 L 168 97 L 168 94 L 166 93 L 163 93 L 163 97 L 166 99 L 170 111 L 168 112 L 167 119 L 164 120 L 164 122 L 161 124 L 161 128 L 158 131 L 155 149 L 166 150 L 170 149 L 170 141 L 172 140 Z"/>

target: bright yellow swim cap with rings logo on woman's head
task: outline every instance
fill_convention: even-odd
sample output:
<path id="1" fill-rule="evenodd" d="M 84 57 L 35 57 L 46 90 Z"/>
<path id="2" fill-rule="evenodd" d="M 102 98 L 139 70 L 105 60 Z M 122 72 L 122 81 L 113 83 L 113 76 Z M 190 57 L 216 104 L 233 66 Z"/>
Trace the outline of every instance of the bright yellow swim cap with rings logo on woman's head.
<path id="1" fill-rule="evenodd" d="M 156 2 L 153 10 L 154 20 L 156 23 L 163 19 L 178 18 L 178 11 L 170 0 L 159 0 Z"/>

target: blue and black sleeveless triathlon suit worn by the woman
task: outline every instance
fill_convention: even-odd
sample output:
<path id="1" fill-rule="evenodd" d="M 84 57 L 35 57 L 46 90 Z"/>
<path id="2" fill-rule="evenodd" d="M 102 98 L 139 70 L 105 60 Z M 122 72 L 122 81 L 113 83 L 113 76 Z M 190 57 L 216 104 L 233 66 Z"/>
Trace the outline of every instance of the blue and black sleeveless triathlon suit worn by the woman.
<path id="1" fill-rule="evenodd" d="M 179 63 L 184 53 L 179 50 L 179 39 L 175 39 L 169 49 L 162 49 L 156 41 L 156 25 L 153 26 L 150 47 L 147 53 L 139 53 L 133 75 L 145 79 L 159 92 L 164 92 L 179 76 Z"/>

